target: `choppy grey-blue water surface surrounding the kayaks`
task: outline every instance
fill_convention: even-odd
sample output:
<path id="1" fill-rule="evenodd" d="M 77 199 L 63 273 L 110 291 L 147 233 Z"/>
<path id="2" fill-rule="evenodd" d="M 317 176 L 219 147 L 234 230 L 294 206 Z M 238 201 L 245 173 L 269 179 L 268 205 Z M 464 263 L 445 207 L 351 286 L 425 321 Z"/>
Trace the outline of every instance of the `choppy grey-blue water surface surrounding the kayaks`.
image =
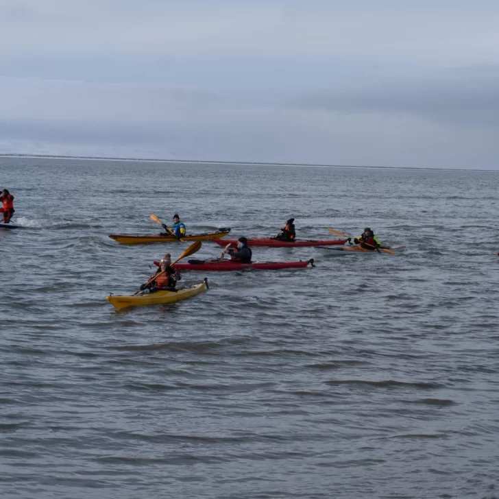
<path id="1" fill-rule="evenodd" d="M 0 160 L 2 498 L 499 495 L 499 175 Z M 186 245 L 108 234 L 302 237 L 369 225 L 400 256 L 255 249 L 317 268 L 208 276 L 114 312 Z M 220 249 L 203 245 L 199 257 Z"/>

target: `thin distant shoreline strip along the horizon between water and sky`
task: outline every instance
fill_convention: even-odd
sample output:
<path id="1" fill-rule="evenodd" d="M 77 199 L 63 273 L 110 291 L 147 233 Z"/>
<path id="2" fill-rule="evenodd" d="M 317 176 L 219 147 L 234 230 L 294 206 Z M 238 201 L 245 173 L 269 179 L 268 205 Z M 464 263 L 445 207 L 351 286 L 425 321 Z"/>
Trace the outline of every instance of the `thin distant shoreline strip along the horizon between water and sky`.
<path id="1" fill-rule="evenodd" d="M 185 163 L 197 165 L 254 165 L 264 167 L 314 167 L 314 168 L 353 168 L 353 169 L 380 169 L 380 170 L 416 170 L 416 171 L 481 171 L 499 173 L 498 170 L 485 169 L 460 169 L 460 168 L 423 168 L 423 167 L 377 167 L 363 165 L 324 165 L 314 163 L 277 163 L 277 162 L 252 162 L 252 161 L 216 161 L 216 160 L 171 160 L 158 158 L 116 158 L 113 156 L 66 156 L 62 154 L 22 154 L 0 153 L 0 158 L 33 158 L 55 160 L 90 160 L 90 161 L 137 161 L 156 163 Z"/>

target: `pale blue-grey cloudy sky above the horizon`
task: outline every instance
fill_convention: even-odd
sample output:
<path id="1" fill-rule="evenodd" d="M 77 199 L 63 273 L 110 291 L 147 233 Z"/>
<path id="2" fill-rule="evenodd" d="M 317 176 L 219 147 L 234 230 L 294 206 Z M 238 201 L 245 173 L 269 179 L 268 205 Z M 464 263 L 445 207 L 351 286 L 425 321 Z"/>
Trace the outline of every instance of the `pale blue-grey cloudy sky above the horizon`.
<path id="1" fill-rule="evenodd" d="M 499 169 L 497 0 L 0 0 L 0 153 Z"/>

